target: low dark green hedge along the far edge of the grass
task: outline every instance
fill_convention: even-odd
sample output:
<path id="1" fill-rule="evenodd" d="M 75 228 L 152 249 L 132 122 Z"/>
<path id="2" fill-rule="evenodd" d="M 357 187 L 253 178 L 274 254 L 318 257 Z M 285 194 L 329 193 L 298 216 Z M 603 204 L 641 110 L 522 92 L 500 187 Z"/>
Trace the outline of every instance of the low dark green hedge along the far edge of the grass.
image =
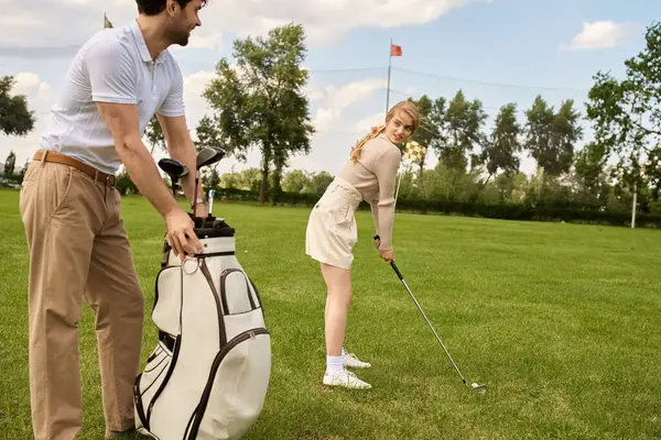
<path id="1" fill-rule="evenodd" d="M 277 197 L 270 195 L 270 204 L 279 206 L 313 207 L 319 199 L 316 194 L 280 193 Z M 215 198 L 219 201 L 257 201 L 259 191 L 248 191 L 235 188 L 216 189 Z M 367 204 L 361 204 L 361 210 L 369 210 Z M 398 211 L 416 213 L 444 213 L 447 216 L 481 217 L 488 219 L 521 220 L 521 221 L 564 221 L 573 223 L 610 224 L 628 227 L 631 224 L 631 212 L 607 211 L 589 205 L 561 202 L 463 202 L 451 200 L 421 200 L 400 198 L 397 201 Z M 637 212 L 636 226 L 640 228 L 661 227 L 661 216 Z"/>

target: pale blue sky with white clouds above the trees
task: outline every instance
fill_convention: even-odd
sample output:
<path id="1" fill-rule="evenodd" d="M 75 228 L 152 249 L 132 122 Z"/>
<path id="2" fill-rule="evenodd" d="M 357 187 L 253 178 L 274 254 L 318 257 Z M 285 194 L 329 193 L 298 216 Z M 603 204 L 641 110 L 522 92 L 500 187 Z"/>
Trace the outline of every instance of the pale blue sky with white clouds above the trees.
<path id="1" fill-rule="evenodd" d="M 202 28 L 186 47 L 170 51 L 184 75 L 189 129 L 209 114 L 202 92 L 217 62 L 232 58 L 232 42 L 266 34 L 286 24 L 303 24 L 310 69 L 305 95 L 316 133 L 307 155 L 290 168 L 335 175 L 355 142 L 380 123 L 387 100 L 392 106 L 427 95 L 452 99 L 462 89 L 479 99 L 491 127 L 498 109 L 514 102 L 519 121 L 541 95 L 554 108 L 574 99 L 585 114 L 593 76 L 625 75 L 625 59 L 644 45 L 646 28 L 661 15 L 651 0 L 210 0 L 201 11 Z M 48 110 L 61 92 L 78 47 L 98 32 L 104 13 L 121 26 L 137 16 L 133 0 L 0 0 L 0 76 L 12 75 L 12 92 L 28 97 L 37 118 L 26 136 L 0 134 L 0 162 L 13 151 L 17 166 L 39 150 Z M 390 57 L 390 42 L 402 56 Z M 388 65 L 391 63 L 390 92 Z M 592 139 L 582 121 L 584 142 Z M 154 160 L 163 154 L 154 154 Z M 219 173 L 259 166 L 259 151 L 248 162 L 231 157 Z M 427 167 L 437 160 L 429 153 Z M 522 170 L 534 172 L 522 156 Z"/>

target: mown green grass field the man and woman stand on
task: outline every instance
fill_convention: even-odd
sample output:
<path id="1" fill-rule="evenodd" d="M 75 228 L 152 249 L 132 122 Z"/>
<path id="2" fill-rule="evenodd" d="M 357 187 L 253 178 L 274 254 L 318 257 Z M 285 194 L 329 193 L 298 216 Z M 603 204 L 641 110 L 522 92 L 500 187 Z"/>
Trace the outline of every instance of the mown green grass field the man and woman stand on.
<path id="1" fill-rule="evenodd" d="M 0 191 L 0 438 L 30 439 L 28 253 L 19 194 Z M 398 215 L 398 266 L 470 382 L 458 375 L 359 212 L 347 345 L 367 392 L 326 389 L 325 287 L 305 255 L 307 209 L 217 202 L 260 289 L 273 370 L 247 439 L 651 439 L 661 437 L 661 232 Z M 143 360 L 163 222 L 142 198 L 123 217 L 147 298 Z M 80 321 L 85 419 L 104 418 L 94 317 Z M 144 363 L 142 364 L 144 365 Z"/>

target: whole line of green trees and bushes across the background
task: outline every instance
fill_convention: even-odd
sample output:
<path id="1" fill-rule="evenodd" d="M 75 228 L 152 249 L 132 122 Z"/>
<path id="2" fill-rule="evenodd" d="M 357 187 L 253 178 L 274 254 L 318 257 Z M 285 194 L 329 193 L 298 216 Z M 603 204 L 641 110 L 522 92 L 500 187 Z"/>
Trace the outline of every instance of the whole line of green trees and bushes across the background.
<path id="1" fill-rule="evenodd" d="M 560 204 L 595 211 L 625 211 L 636 199 L 643 213 L 658 212 L 659 23 L 647 28 L 644 42 L 637 55 L 624 62 L 625 78 L 602 70 L 594 75 L 583 112 L 572 99 L 555 108 L 540 95 L 522 112 L 516 102 L 502 105 L 487 131 L 483 102 L 460 89 L 453 97 L 409 98 L 423 117 L 413 140 L 426 147 L 426 154 L 403 172 L 400 198 L 427 205 L 431 200 Z M 203 94 L 208 112 L 195 128 L 198 145 L 223 145 L 239 162 L 258 148 L 261 163 L 243 174 L 209 175 L 212 186 L 217 182 L 219 188 L 257 193 L 263 204 L 283 194 L 316 194 L 329 182 L 327 172 L 286 172 L 293 155 L 310 153 L 314 134 L 303 91 L 308 79 L 302 67 L 306 51 L 303 26 L 291 23 L 264 36 L 235 40 L 234 64 L 225 57 L 217 63 Z M 9 96 L 11 80 L 6 77 L 0 82 L 0 130 L 22 135 L 32 129 L 34 117 L 24 97 Z M 582 121 L 593 127 L 595 139 L 579 148 Z M 152 152 L 164 148 L 156 118 L 144 135 Z M 434 168 L 427 166 L 430 154 L 438 158 Z M 531 176 L 520 169 L 524 155 L 538 166 Z"/>

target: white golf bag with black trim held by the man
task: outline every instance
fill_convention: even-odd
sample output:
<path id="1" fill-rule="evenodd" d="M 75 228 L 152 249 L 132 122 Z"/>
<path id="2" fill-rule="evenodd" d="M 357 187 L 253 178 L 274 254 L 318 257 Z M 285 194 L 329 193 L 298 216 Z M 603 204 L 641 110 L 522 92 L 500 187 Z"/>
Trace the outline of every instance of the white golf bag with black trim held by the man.
<path id="1" fill-rule="evenodd" d="M 195 220 L 202 254 L 182 263 L 164 244 L 152 310 L 159 342 L 133 386 L 136 424 L 160 440 L 238 439 L 263 407 L 271 337 L 234 228 Z"/>

